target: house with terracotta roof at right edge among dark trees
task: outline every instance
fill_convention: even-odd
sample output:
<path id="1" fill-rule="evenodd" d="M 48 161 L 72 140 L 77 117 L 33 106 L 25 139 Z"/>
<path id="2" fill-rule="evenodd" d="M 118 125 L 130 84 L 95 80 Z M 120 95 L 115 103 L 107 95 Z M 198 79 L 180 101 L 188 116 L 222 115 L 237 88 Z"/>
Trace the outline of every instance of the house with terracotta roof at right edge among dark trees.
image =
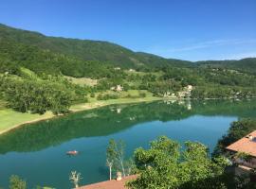
<path id="1" fill-rule="evenodd" d="M 247 174 L 256 170 L 256 130 L 226 147 L 232 155 L 232 163 L 237 164 L 235 174 Z M 250 180 L 255 180 L 255 175 Z"/>

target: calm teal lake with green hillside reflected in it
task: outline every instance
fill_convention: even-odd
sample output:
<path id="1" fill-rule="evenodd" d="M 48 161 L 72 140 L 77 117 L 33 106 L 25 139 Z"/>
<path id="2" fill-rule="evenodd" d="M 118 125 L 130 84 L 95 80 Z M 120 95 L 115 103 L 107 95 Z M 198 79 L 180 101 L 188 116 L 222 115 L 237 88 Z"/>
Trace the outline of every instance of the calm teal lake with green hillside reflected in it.
<path id="1" fill-rule="evenodd" d="M 160 135 L 198 141 L 211 152 L 230 123 L 245 117 L 256 117 L 256 100 L 115 105 L 27 125 L 0 136 L 0 187 L 8 188 L 15 174 L 29 188 L 71 188 L 72 170 L 82 173 L 82 184 L 108 180 L 105 150 L 112 138 L 125 142 L 127 157 Z M 74 149 L 78 156 L 65 155 Z"/>

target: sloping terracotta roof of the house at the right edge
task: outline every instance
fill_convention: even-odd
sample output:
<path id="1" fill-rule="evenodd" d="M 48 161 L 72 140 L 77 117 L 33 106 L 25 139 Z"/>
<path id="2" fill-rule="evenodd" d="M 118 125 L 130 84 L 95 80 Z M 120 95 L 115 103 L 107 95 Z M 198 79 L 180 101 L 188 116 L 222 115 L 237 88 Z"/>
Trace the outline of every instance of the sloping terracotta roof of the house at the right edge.
<path id="1" fill-rule="evenodd" d="M 226 148 L 231 151 L 245 152 L 256 157 L 256 130 Z"/>

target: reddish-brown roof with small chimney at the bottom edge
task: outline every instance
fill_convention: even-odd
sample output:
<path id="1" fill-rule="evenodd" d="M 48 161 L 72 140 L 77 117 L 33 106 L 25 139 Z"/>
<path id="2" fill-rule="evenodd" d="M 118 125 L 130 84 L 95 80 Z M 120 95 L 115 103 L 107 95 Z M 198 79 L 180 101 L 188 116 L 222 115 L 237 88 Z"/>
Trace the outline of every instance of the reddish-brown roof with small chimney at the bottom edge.
<path id="1" fill-rule="evenodd" d="M 107 180 L 80 187 L 79 189 L 125 189 L 125 182 L 135 180 L 136 175 L 122 178 L 122 180 Z"/>

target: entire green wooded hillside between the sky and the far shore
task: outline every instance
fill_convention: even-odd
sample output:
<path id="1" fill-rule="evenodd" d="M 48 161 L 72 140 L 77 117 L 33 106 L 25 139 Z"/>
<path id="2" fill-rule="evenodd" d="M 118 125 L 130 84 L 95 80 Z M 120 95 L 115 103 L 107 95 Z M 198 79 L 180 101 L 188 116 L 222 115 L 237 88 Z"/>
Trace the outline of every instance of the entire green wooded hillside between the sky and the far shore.
<path id="1" fill-rule="evenodd" d="M 124 91 L 143 90 L 155 96 L 254 97 L 255 68 L 255 58 L 164 59 L 115 43 L 47 37 L 0 25 L 0 97 L 20 112 L 58 114 L 91 97 L 119 98 L 118 93 L 108 93 L 118 85 Z M 97 83 L 73 82 L 82 78 Z M 190 85 L 192 91 L 187 93 Z"/>

